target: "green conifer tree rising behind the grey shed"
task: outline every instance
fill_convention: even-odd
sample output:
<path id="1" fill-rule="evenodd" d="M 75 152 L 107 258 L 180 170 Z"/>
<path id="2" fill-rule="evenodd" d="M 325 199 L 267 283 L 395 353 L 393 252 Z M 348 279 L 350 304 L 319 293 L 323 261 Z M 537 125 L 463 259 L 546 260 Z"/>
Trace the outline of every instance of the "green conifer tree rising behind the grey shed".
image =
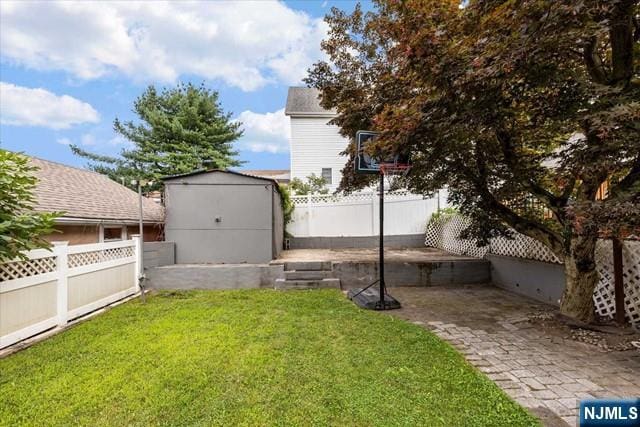
<path id="1" fill-rule="evenodd" d="M 136 99 L 134 112 L 139 123 L 114 121 L 116 133 L 134 145 L 119 157 L 73 145 L 71 149 L 93 162 L 90 169 L 125 185 L 138 178 L 158 182 L 161 177 L 203 167 L 226 169 L 241 164 L 234 159 L 238 152 L 232 147 L 242 135 L 241 123 L 231 121 L 213 90 L 191 83 L 161 92 L 149 86 Z"/>

